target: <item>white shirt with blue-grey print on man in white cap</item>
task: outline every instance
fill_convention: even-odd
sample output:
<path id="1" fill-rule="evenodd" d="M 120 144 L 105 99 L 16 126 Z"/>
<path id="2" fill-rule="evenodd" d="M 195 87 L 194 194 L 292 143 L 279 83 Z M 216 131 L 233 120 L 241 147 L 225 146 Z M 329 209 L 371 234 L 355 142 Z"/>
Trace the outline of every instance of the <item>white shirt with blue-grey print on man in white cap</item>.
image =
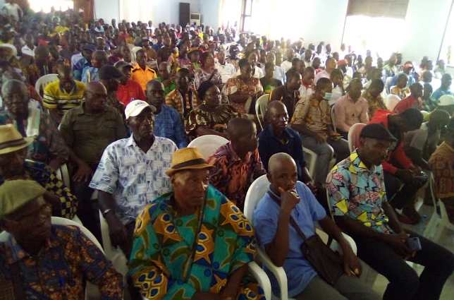
<path id="1" fill-rule="evenodd" d="M 145 205 L 171 191 L 165 171 L 177 149 L 173 141 L 157 136 L 147 153 L 137 146 L 133 135 L 117 140 L 104 150 L 90 188 L 113 194 L 116 213 L 128 224 Z"/>

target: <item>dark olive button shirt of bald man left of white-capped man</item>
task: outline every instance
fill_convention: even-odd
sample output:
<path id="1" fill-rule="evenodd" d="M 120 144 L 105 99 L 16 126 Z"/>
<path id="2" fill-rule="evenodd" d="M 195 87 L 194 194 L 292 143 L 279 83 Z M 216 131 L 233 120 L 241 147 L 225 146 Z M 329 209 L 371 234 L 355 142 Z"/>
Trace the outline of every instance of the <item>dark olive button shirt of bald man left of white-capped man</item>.
<path id="1" fill-rule="evenodd" d="M 113 107 L 106 106 L 101 114 L 88 114 L 85 103 L 70 109 L 60 124 L 66 145 L 87 164 L 97 164 L 102 152 L 112 142 L 125 138 L 123 117 Z"/>

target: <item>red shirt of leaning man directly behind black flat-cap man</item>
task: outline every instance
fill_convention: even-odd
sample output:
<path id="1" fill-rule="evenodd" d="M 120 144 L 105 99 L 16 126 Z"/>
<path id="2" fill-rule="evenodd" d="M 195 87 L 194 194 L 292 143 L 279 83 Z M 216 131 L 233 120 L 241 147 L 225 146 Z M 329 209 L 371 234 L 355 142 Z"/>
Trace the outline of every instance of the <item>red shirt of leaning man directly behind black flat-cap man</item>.
<path id="1" fill-rule="evenodd" d="M 383 125 L 385 128 L 389 128 L 388 116 L 394 114 L 384 109 L 379 109 L 375 112 L 372 120 L 369 121 L 369 124 L 378 123 Z M 410 158 L 407 157 L 405 151 L 403 150 L 403 141 L 398 140 L 398 144 L 395 146 L 394 150 L 391 151 L 388 155 L 388 159 L 381 163 L 383 169 L 391 174 L 395 174 L 398 169 L 410 169 L 413 167 L 413 163 Z M 397 162 L 400 166 L 395 167 L 391 162 Z"/>

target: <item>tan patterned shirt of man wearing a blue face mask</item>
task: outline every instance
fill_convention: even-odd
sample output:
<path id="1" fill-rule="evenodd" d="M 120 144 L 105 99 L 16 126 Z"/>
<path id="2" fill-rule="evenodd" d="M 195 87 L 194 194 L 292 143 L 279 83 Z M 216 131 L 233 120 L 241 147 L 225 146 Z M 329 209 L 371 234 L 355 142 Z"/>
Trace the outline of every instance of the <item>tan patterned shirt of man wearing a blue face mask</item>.
<path id="1" fill-rule="evenodd" d="M 309 100 L 300 100 L 295 105 L 292 124 L 305 124 L 309 130 L 327 137 L 331 121 L 331 108 L 326 100 L 317 100 L 312 95 Z"/>

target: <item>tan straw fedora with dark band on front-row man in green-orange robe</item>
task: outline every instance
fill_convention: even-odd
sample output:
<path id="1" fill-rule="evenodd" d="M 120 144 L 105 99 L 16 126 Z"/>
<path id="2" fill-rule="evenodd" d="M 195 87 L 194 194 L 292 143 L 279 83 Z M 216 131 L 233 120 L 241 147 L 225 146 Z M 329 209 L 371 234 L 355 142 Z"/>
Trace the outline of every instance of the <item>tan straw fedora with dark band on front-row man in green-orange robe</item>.
<path id="1" fill-rule="evenodd" d="M 211 164 L 203 158 L 197 148 L 183 148 L 176 150 L 172 156 L 171 168 L 166 171 L 168 176 L 188 169 L 208 169 Z"/>

